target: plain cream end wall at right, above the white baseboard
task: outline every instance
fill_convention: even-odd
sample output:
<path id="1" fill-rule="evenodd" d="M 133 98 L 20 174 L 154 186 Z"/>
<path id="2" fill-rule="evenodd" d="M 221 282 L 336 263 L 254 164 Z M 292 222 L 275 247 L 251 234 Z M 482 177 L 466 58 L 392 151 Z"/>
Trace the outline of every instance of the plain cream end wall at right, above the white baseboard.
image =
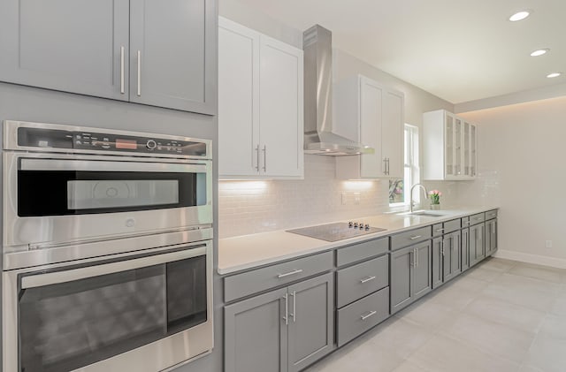
<path id="1" fill-rule="evenodd" d="M 479 175 L 459 194 L 501 206 L 498 255 L 566 268 L 566 96 L 461 115 L 478 125 Z"/>

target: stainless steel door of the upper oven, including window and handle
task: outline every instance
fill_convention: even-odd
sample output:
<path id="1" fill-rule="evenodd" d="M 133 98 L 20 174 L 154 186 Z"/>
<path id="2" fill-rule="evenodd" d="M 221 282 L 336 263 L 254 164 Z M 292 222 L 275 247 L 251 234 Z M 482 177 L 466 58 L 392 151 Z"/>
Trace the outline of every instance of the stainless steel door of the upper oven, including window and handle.
<path id="1" fill-rule="evenodd" d="M 4 152 L 4 247 L 212 223 L 210 161 Z"/>

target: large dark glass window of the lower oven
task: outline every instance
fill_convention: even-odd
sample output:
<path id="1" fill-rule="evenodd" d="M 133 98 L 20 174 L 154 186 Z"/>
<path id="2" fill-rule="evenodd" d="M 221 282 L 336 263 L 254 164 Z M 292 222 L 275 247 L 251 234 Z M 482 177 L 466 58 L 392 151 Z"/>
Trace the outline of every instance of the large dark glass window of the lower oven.
<path id="1" fill-rule="evenodd" d="M 19 292 L 21 372 L 62 372 L 207 320 L 206 257 Z"/>

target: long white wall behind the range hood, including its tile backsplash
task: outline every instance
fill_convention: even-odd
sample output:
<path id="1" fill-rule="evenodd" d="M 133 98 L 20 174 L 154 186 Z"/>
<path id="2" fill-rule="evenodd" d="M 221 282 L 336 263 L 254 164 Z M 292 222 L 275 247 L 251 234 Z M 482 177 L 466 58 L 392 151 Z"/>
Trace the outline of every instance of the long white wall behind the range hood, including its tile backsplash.
<path id="1" fill-rule="evenodd" d="M 219 14 L 302 48 L 302 30 L 265 15 L 238 0 L 220 0 Z M 405 94 L 405 115 L 409 124 L 421 126 L 428 110 L 454 110 L 454 105 L 424 90 L 382 72 L 341 50 L 333 50 L 333 80 L 361 73 Z M 344 182 L 334 178 L 334 159 L 305 156 L 304 180 L 263 183 L 220 181 L 218 185 L 218 231 L 220 238 L 255 232 L 288 229 L 308 224 L 348 220 L 388 210 L 388 181 Z M 444 188 L 442 188 L 444 187 Z M 447 200 L 457 200 L 457 188 L 441 185 Z M 360 193 L 356 204 L 354 193 Z M 346 193 L 346 204 L 341 194 Z"/>

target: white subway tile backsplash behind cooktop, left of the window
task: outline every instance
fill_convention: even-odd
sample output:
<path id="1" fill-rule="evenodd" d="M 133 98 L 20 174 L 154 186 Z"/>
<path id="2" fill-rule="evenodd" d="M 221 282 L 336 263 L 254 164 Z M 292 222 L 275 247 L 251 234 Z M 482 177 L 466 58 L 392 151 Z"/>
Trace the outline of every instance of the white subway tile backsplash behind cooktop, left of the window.
<path id="1" fill-rule="evenodd" d="M 389 208 L 388 181 L 334 178 L 334 158 L 305 155 L 302 180 L 220 181 L 220 238 L 371 216 Z M 341 194 L 345 193 L 346 204 Z M 359 193 L 359 203 L 356 195 Z"/>

